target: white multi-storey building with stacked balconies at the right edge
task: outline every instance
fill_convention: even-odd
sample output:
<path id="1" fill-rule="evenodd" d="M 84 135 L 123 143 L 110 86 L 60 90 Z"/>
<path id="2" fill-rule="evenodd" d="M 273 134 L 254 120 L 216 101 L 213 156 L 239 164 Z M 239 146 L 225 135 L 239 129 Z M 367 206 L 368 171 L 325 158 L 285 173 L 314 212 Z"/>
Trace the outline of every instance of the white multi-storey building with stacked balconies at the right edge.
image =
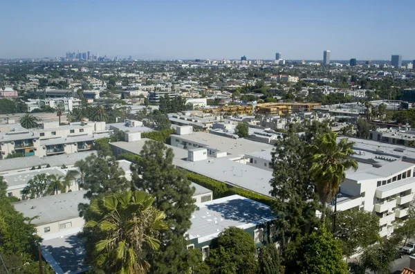
<path id="1" fill-rule="evenodd" d="M 340 185 L 337 210 L 357 208 L 380 217 L 380 237 L 394 232 L 397 219 L 405 219 L 415 193 L 415 164 L 392 161 L 381 167 L 359 163 L 356 172 L 347 171 Z"/>

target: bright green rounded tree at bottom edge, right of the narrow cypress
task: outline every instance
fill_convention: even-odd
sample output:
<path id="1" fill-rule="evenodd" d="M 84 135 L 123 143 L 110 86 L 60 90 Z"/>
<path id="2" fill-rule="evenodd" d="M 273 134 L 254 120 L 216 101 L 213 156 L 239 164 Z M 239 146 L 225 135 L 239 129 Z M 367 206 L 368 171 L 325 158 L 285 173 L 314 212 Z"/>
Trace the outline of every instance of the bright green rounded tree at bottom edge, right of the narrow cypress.
<path id="1" fill-rule="evenodd" d="M 347 274 L 339 241 L 324 225 L 297 242 L 292 241 L 286 259 L 286 273 Z"/>

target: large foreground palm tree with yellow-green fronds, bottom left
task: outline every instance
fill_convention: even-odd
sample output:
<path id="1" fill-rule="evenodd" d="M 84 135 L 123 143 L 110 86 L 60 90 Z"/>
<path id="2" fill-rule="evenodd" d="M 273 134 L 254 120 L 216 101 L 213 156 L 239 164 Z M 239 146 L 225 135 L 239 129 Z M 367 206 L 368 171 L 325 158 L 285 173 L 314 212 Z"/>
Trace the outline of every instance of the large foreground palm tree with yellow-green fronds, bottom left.
<path id="1" fill-rule="evenodd" d="M 148 252 L 158 250 L 156 239 L 167 229 L 164 212 L 152 206 L 149 194 L 127 190 L 93 199 L 84 218 L 86 253 L 94 268 L 105 273 L 147 273 Z"/>

